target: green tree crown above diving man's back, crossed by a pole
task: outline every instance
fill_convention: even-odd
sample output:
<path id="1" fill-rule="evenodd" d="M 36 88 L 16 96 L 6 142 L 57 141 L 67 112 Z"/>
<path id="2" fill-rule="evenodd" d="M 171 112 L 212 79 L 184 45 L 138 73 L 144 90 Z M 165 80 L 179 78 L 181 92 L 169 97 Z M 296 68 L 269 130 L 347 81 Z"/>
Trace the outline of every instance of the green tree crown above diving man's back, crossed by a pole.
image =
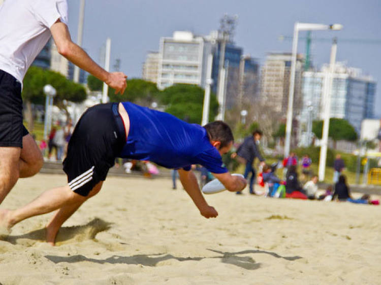
<path id="1" fill-rule="evenodd" d="M 176 84 L 162 91 L 160 102 L 165 111 L 188 123 L 201 124 L 205 91 L 197 85 Z M 210 94 L 209 121 L 217 115 L 216 96 Z"/>

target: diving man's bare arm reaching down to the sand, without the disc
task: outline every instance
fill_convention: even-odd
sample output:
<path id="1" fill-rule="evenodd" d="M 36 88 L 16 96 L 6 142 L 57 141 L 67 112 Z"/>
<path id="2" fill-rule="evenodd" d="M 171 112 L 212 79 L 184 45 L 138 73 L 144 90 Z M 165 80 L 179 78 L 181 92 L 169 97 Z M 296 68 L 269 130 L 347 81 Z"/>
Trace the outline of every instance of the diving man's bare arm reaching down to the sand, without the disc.
<path id="1" fill-rule="evenodd" d="M 200 210 L 201 215 L 207 219 L 217 217 L 217 211 L 208 205 L 204 196 L 201 194 L 196 175 L 192 172 L 192 170 L 186 171 L 184 169 L 179 169 L 178 172 L 182 186 Z"/>

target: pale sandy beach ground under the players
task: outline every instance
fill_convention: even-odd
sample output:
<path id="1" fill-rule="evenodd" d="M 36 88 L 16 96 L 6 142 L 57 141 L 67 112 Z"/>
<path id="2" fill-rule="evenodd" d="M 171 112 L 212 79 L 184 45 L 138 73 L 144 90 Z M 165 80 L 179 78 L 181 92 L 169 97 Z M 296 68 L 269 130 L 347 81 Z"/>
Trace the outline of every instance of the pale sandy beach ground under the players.
<path id="1" fill-rule="evenodd" d="M 18 207 L 66 182 L 20 180 L 1 207 Z M 379 197 L 378 197 L 379 198 Z M 203 218 L 166 179 L 109 177 L 42 241 L 50 215 L 16 225 L 0 241 L 8 284 L 376 284 L 381 283 L 381 207 L 222 192 Z"/>

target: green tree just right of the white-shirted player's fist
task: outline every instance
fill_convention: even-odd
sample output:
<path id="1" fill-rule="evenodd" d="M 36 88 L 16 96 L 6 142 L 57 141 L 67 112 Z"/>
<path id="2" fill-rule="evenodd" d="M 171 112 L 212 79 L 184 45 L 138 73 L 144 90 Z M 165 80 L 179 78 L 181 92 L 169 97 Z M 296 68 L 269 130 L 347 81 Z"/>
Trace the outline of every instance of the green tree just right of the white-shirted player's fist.
<path id="1" fill-rule="evenodd" d="M 158 100 L 160 91 L 156 84 L 143 79 L 131 79 L 127 81 L 127 88 L 123 94 L 115 94 L 115 90 L 109 88 L 108 95 L 112 102 L 130 101 L 143 106 L 150 106 Z"/>

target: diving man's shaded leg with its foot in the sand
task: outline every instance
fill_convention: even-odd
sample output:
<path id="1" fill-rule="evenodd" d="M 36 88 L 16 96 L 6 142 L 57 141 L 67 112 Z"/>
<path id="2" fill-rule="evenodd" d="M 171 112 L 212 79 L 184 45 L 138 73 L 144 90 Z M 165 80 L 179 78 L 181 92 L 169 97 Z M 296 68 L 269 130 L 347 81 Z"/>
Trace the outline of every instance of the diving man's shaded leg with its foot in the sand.
<path id="1" fill-rule="evenodd" d="M 102 188 L 103 182 L 98 183 L 94 188 L 90 191 L 87 197 L 84 197 L 85 200 L 96 195 Z M 62 206 L 58 211 L 55 212 L 52 219 L 46 226 L 46 241 L 54 245 L 55 237 L 58 233 L 59 228 L 65 223 L 66 220 L 69 219 L 70 216 L 83 204 L 85 201 L 79 201 L 77 203 L 71 203 L 65 206 Z"/>

